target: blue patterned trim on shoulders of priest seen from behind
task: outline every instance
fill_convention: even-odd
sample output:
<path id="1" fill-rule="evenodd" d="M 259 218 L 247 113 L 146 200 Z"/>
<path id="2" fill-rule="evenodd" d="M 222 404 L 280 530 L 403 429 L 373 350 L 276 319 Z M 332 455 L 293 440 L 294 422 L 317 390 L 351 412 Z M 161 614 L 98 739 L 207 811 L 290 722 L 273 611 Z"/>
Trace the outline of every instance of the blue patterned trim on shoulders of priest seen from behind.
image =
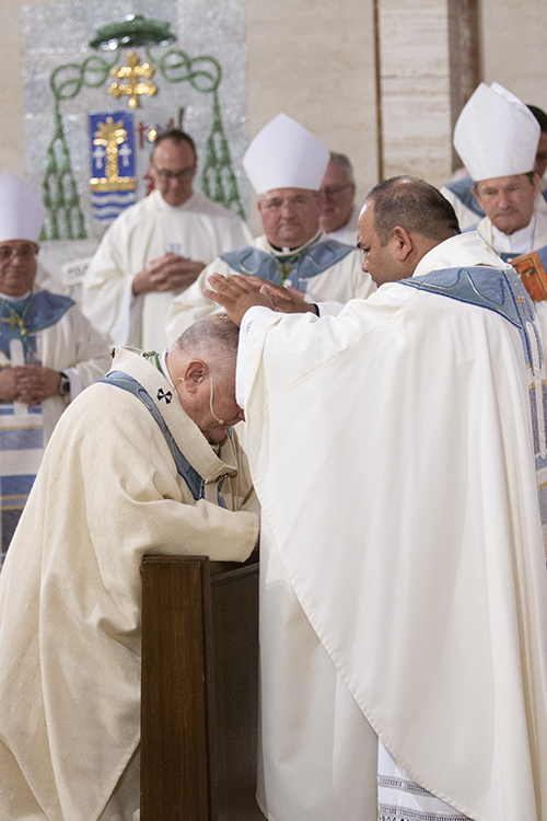
<path id="1" fill-rule="evenodd" d="M 517 328 L 528 375 L 537 495 L 545 532 L 547 524 L 546 369 L 542 340 L 535 322 L 534 302 L 521 278 L 511 268 L 477 266 L 435 270 L 421 277 L 404 279 L 400 285 L 494 311 Z"/>

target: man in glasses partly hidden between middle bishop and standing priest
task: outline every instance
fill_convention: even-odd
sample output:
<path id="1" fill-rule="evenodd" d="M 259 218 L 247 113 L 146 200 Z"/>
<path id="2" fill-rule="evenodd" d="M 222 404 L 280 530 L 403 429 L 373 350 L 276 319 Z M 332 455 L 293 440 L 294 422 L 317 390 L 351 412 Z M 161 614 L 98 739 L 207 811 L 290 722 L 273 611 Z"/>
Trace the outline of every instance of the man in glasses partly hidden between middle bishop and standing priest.
<path id="1" fill-rule="evenodd" d="M 321 190 L 322 229 L 338 242 L 356 245 L 359 206 L 354 205 L 357 187 L 349 157 L 330 152 Z"/>

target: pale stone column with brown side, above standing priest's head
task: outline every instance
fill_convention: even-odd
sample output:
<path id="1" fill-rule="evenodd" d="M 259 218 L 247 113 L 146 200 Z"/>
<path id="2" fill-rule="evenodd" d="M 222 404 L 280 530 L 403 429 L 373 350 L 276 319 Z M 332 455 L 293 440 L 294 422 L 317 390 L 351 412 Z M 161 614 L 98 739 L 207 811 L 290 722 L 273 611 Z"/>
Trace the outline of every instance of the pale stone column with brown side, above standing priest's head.
<path id="1" fill-rule="evenodd" d="M 475 0 L 375 0 L 381 176 L 441 186 L 452 130 L 478 82 Z"/>

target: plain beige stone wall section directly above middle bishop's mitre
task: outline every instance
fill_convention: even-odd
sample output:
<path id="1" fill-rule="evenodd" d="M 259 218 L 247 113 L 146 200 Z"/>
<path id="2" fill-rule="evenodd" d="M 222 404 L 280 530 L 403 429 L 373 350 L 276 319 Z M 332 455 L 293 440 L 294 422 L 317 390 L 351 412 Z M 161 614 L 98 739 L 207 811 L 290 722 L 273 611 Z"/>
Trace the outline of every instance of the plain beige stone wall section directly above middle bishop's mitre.
<path id="1" fill-rule="evenodd" d="M 247 0 L 251 135 L 283 112 L 377 182 L 372 0 Z"/>

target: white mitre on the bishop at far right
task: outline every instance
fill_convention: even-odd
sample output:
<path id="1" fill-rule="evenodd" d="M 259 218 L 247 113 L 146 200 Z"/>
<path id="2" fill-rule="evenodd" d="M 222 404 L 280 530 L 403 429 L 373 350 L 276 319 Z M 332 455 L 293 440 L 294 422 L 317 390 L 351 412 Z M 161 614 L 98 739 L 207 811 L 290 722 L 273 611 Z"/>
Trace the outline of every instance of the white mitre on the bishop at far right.
<path id="1" fill-rule="evenodd" d="M 540 130 L 519 97 L 499 83 L 480 83 L 458 117 L 454 147 L 475 181 L 526 174 Z"/>

